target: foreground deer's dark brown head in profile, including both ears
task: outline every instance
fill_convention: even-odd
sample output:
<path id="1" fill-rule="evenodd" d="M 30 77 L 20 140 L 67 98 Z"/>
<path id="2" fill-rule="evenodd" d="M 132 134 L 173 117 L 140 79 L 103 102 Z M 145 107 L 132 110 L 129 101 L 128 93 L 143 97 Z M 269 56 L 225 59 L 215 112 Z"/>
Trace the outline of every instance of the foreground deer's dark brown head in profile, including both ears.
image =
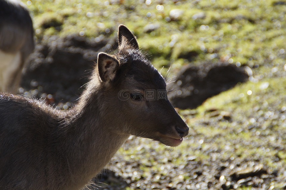
<path id="1" fill-rule="evenodd" d="M 102 120 L 112 132 L 178 146 L 189 128 L 167 98 L 164 78 L 126 26 L 119 26 L 118 38 L 118 52 L 100 53 L 97 59 Z"/>

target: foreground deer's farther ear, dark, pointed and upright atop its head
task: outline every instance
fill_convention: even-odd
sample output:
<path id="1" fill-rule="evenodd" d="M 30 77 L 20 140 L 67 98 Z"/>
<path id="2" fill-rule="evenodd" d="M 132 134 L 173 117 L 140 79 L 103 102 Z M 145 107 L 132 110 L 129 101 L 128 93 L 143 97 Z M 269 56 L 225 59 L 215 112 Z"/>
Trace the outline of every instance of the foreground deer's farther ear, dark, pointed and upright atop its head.
<path id="1" fill-rule="evenodd" d="M 119 25 L 118 27 L 118 43 L 119 46 L 129 45 L 134 49 L 139 49 L 136 37 L 130 32 L 130 30 L 124 26 Z"/>

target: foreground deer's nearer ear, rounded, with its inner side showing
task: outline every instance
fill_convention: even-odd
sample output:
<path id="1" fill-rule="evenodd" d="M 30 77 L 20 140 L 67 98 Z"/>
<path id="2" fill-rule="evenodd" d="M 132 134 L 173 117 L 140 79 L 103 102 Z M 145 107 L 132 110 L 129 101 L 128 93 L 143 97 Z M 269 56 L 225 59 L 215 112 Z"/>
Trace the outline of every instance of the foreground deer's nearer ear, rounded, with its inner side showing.
<path id="1" fill-rule="evenodd" d="M 112 81 L 119 66 L 118 60 L 108 54 L 99 53 L 97 56 L 97 67 L 99 77 L 103 82 Z"/>

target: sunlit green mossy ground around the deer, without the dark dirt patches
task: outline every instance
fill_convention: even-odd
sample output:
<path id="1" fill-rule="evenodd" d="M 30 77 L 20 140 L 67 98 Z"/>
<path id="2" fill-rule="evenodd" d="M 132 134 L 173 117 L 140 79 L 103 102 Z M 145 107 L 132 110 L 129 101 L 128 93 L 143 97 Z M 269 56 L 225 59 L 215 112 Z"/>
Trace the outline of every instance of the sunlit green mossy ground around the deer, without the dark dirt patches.
<path id="1" fill-rule="evenodd" d="M 118 25 L 125 24 L 169 78 L 183 65 L 215 60 L 247 66 L 251 72 L 249 81 L 198 108 L 179 110 L 190 126 L 179 147 L 128 140 L 109 167 L 128 183 L 122 189 L 285 188 L 286 1 L 23 2 L 31 11 L 38 43 L 49 35 L 116 37 Z M 231 178 L 231 173 L 259 164 L 274 177 L 239 184 Z"/>

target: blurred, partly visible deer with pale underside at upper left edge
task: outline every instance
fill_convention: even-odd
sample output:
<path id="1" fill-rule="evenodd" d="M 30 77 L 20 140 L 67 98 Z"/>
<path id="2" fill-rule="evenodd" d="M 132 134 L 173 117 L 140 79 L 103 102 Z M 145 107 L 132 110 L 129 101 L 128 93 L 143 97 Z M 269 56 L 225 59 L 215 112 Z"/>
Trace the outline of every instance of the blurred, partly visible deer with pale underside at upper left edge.
<path id="1" fill-rule="evenodd" d="M 25 5 L 0 0 L 0 91 L 18 92 L 22 70 L 34 49 L 33 23 Z"/>

